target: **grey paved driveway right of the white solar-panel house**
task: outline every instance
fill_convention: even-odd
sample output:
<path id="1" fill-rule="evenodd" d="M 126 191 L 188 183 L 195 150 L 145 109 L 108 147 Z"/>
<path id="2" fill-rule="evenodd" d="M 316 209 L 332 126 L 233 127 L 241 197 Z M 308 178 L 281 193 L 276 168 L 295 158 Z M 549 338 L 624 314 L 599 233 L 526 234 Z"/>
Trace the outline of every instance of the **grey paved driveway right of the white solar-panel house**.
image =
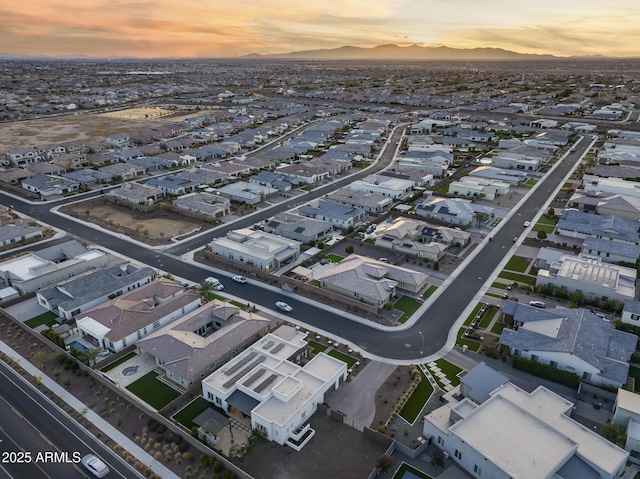
<path id="1" fill-rule="evenodd" d="M 376 414 L 376 391 L 395 368 L 395 364 L 371 361 L 355 378 L 343 383 L 329 397 L 329 407 L 346 414 L 363 426 L 371 426 Z"/>

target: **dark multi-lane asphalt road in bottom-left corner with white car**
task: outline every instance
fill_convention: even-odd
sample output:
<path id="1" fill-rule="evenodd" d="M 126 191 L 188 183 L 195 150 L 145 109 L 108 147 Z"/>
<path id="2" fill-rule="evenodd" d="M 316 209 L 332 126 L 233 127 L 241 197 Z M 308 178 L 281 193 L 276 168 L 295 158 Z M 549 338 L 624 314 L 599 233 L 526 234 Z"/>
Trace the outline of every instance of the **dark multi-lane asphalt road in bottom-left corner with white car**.
<path id="1" fill-rule="evenodd" d="M 89 453 L 108 464 L 110 478 L 142 477 L 4 363 L 0 391 L 0 478 L 93 477 L 78 463 Z"/>

